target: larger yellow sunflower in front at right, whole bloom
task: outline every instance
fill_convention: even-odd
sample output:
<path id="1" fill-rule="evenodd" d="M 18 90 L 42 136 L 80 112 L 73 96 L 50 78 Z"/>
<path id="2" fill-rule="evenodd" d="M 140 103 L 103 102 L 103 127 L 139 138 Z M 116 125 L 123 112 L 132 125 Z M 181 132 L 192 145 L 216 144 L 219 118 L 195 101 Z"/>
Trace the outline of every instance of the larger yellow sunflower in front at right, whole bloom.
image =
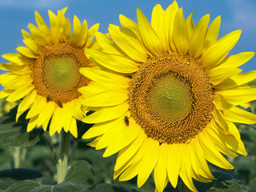
<path id="1" fill-rule="evenodd" d="M 193 13 L 192 13 L 193 14 Z M 114 178 L 138 175 L 138 187 L 154 170 L 157 191 L 178 176 L 190 190 L 193 179 L 211 182 L 207 162 L 233 169 L 222 156 L 246 156 L 234 122 L 256 123 L 256 115 L 238 107 L 256 98 L 246 82 L 256 71 L 238 69 L 253 57 L 247 52 L 227 57 L 241 30 L 218 38 L 221 18 L 208 27 L 206 14 L 194 26 L 173 2 L 154 7 L 151 24 L 137 10 L 138 24 L 120 15 L 123 28 L 110 25 L 114 42 L 95 36 L 103 51 L 86 49 L 101 69 L 80 71 L 94 84 L 80 89 L 90 95 L 82 103 L 96 110 L 83 119 L 95 125 L 82 138 L 106 148 L 104 157 L 118 153 Z"/>

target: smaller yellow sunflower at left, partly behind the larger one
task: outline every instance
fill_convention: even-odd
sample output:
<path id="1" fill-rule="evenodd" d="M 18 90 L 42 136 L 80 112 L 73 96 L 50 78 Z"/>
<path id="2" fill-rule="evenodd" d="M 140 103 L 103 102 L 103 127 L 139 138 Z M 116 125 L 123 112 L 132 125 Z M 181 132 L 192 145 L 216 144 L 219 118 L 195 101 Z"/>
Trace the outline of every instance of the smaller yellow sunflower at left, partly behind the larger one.
<path id="1" fill-rule="evenodd" d="M 30 119 L 27 131 L 35 126 L 44 130 L 50 122 L 50 134 L 62 128 L 78 136 L 76 119 L 84 117 L 80 109 L 82 94 L 78 88 L 86 86 L 88 78 L 79 73 L 81 67 L 91 62 L 84 54 L 85 48 L 92 48 L 98 24 L 88 30 L 87 22 L 81 25 L 74 16 L 73 34 L 70 20 L 65 18 L 66 9 L 58 10 L 55 15 L 49 10 L 50 29 L 35 12 L 38 27 L 29 24 L 30 33 L 22 30 L 26 46 L 18 46 L 18 53 L 3 54 L 10 62 L 1 65 L 2 70 L 10 70 L 0 76 L 5 87 L 0 98 L 12 102 L 22 98 L 16 118 L 26 110 Z M 51 120 L 50 120 L 51 119 Z"/>

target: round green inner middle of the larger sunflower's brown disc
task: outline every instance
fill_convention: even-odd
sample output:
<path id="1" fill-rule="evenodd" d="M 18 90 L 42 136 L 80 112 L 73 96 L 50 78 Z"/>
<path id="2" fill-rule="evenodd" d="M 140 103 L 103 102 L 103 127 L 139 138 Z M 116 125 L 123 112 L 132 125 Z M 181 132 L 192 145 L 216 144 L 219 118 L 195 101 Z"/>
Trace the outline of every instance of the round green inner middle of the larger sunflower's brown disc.
<path id="1" fill-rule="evenodd" d="M 161 75 L 152 79 L 148 94 L 147 107 L 155 110 L 162 118 L 178 121 L 190 113 L 192 95 L 190 86 L 171 74 Z"/>

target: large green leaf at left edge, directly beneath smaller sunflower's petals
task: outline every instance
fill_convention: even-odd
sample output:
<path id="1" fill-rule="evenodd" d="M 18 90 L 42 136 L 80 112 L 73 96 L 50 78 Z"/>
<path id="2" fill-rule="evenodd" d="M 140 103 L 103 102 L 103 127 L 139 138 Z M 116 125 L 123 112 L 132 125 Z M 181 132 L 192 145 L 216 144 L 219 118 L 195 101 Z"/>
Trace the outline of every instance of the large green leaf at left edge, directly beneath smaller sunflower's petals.
<path id="1" fill-rule="evenodd" d="M 15 122 L 17 106 L 10 110 L 8 114 L 0 117 L 0 145 L 1 146 L 33 146 L 40 140 L 44 131 L 34 129 L 30 133 L 26 132 L 26 114 L 23 114 L 18 122 Z"/>

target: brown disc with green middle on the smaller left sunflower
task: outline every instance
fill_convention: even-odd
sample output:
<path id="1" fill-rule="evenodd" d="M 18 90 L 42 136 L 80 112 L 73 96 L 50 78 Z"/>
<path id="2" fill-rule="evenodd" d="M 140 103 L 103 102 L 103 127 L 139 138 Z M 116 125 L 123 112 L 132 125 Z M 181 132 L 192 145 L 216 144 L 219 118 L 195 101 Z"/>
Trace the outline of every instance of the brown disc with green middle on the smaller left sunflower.
<path id="1" fill-rule="evenodd" d="M 38 94 L 59 105 L 79 98 L 78 88 L 90 81 L 79 73 L 81 67 L 89 66 L 83 50 L 59 43 L 46 46 L 32 66 L 32 78 Z"/>

